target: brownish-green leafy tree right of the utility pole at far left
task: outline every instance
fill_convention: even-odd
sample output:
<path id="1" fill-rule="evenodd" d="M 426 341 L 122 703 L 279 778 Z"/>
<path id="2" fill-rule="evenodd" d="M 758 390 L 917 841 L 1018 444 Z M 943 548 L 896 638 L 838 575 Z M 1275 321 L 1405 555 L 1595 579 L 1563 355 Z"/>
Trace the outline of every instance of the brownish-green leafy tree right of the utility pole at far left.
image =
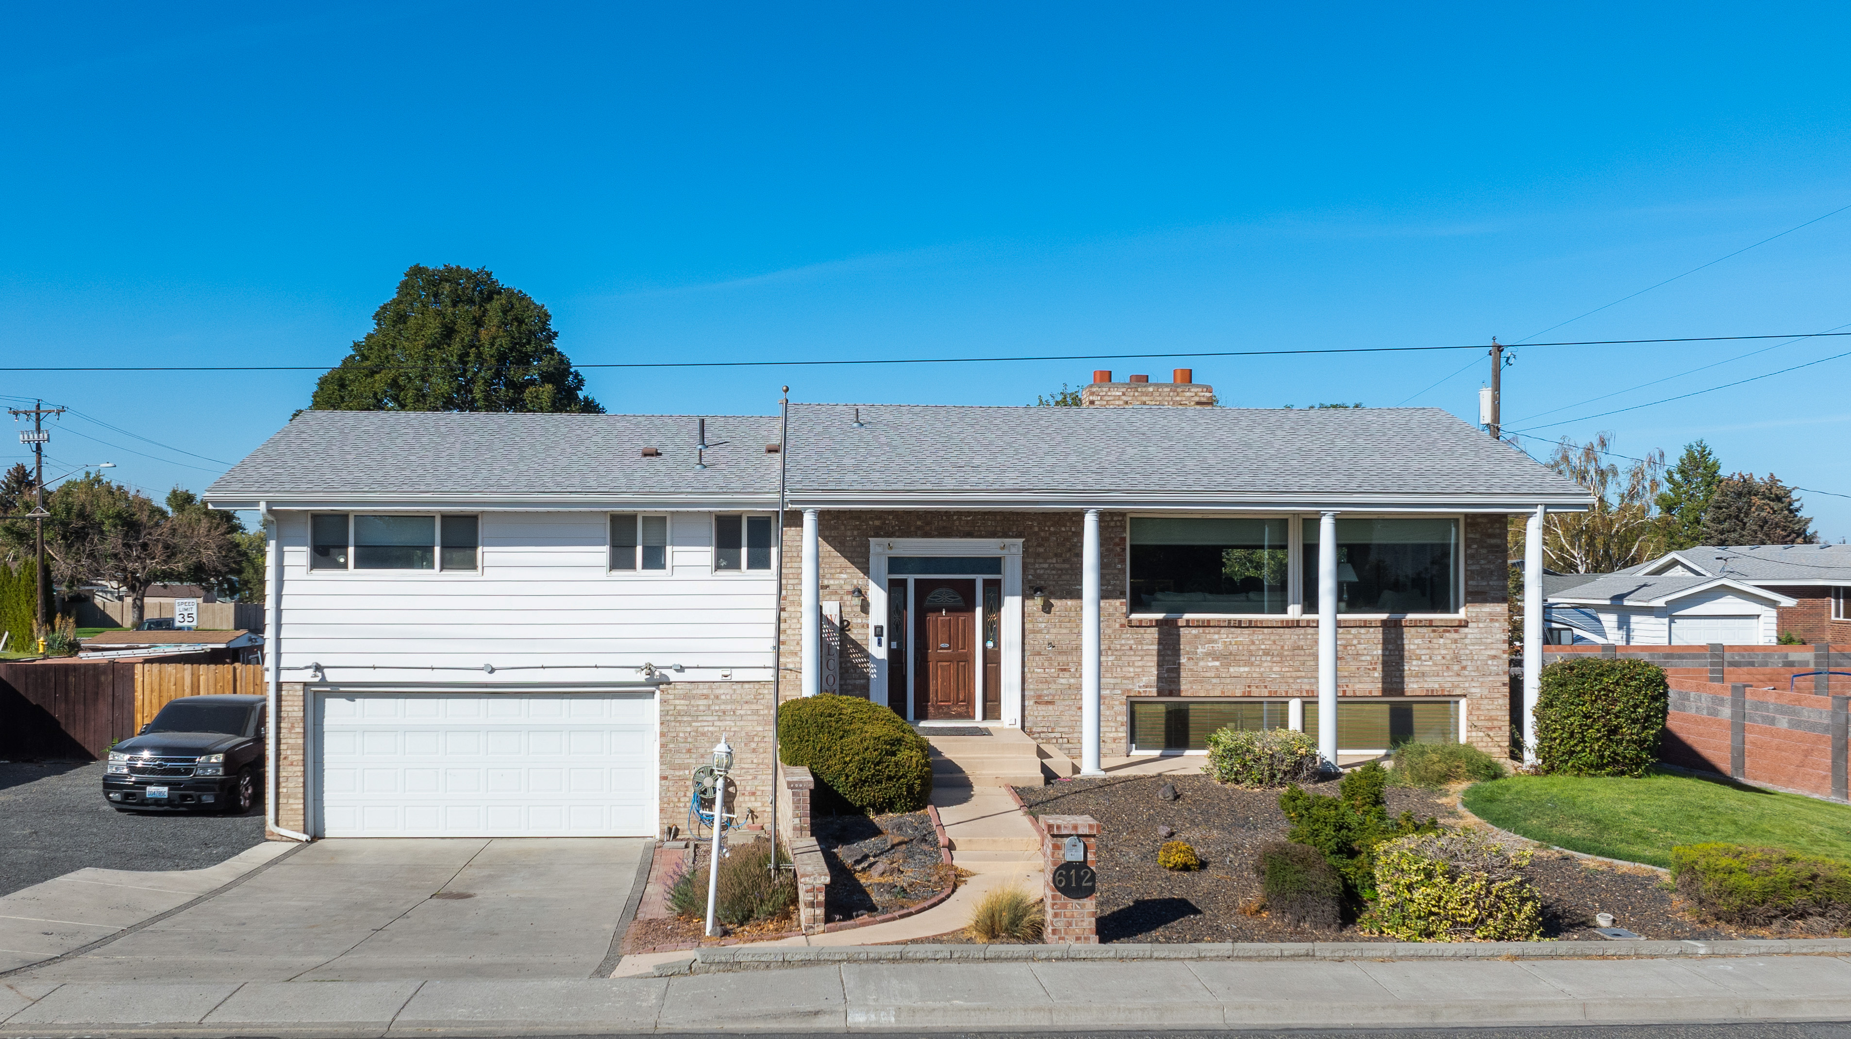
<path id="1" fill-rule="evenodd" d="M 241 568 L 242 549 L 220 514 L 204 507 L 168 512 L 96 473 L 48 494 L 44 508 L 52 514 L 44 521 L 52 573 L 65 586 L 107 581 L 120 588 L 130 601 L 128 627 L 141 627 L 150 584 L 215 582 Z"/>

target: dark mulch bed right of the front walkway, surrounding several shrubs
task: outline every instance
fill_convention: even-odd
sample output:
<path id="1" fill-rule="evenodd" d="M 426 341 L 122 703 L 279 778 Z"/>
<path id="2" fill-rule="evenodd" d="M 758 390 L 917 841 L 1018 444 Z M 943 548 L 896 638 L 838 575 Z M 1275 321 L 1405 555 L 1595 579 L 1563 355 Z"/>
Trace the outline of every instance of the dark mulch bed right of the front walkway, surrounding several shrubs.
<path id="1" fill-rule="evenodd" d="M 1157 791 L 1174 782 L 1177 801 Z M 1336 782 L 1307 789 L 1336 793 Z M 1285 813 L 1277 789 L 1240 789 L 1209 776 L 1074 778 L 1051 786 L 1022 786 L 1016 793 L 1035 815 L 1092 815 L 1099 821 L 1099 941 L 1392 941 L 1346 924 L 1338 934 L 1296 932 L 1266 915 L 1244 915 L 1261 897 L 1253 874 L 1259 847 L 1283 841 Z M 1388 788 L 1388 812 L 1438 815 L 1459 823 L 1455 799 L 1440 791 Z M 1166 837 L 1194 845 L 1207 863 L 1196 873 L 1157 865 Z M 1594 913 L 1651 939 L 1753 937 L 1699 924 L 1677 910 L 1671 891 L 1649 869 L 1584 863 L 1560 852 L 1536 852 L 1529 869 L 1544 900 L 1544 937 L 1594 939 Z"/>

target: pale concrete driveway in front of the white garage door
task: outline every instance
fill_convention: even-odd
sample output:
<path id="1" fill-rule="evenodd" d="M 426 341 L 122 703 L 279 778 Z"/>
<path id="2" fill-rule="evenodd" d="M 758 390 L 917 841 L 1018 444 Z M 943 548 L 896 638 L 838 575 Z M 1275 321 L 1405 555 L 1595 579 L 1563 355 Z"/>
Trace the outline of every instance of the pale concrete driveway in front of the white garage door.
<path id="1" fill-rule="evenodd" d="M 650 845 L 318 841 L 191 910 L 15 978 L 590 978 Z"/>

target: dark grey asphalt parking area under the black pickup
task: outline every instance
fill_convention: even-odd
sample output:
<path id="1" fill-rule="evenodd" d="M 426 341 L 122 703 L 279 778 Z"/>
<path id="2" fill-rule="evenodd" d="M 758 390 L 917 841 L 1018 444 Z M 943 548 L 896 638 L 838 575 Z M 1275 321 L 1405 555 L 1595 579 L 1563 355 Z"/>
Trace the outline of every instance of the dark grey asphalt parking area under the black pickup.
<path id="1" fill-rule="evenodd" d="M 98 869 L 204 869 L 263 841 L 263 804 L 246 815 L 117 812 L 104 764 L 0 764 L 0 895 Z"/>

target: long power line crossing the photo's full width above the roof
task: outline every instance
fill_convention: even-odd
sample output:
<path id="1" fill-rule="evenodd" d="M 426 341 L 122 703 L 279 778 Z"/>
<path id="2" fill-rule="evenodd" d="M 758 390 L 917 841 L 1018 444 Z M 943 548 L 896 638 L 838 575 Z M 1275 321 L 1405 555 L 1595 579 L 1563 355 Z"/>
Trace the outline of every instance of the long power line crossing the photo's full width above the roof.
<path id="1" fill-rule="evenodd" d="M 1818 338 L 1851 333 L 1779 333 L 1779 335 L 1697 335 L 1671 338 L 1584 338 L 1562 342 L 1533 342 L 1529 346 L 1649 346 L 1664 342 L 1733 342 L 1757 338 Z M 572 368 L 809 368 L 826 364 L 994 364 L 1020 361 L 1140 361 L 1159 357 L 1290 357 L 1311 353 L 1409 353 L 1431 349 L 1490 349 L 1488 342 L 1446 346 L 1325 346 L 1305 349 L 1205 349 L 1166 353 L 1048 353 L 1031 357 L 853 357 L 839 361 L 633 361 L 572 364 Z M 422 372 L 418 364 L 355 364 L 366 372 Z M 11 366 L 0 372 L 331 372 L 326 364 L 154 364 L 154 366 Z"/>

